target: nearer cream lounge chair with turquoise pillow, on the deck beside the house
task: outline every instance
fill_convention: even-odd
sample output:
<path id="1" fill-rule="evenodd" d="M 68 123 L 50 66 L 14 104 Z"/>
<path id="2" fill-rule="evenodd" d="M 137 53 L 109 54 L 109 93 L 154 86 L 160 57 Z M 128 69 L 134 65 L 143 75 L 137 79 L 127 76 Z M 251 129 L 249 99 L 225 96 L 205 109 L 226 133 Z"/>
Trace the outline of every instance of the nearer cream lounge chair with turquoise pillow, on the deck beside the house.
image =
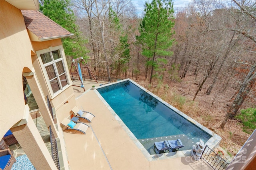
<path id="1" fill-rule="evenodd" d="M 75 131 L 80 131 L 81 133 L 84 133 L 86 134 L 86 130 L 88 129 L 88 125 L 86 125 L 85 123 L 83 122 L 79 122 L 79 121 L 71 121 L 70 119 L 68 118 L 64 118 L 64 120 L 61 122 L 62 125 L 66 126 L 66 129 L 65 130 L 75 130 Z"/>

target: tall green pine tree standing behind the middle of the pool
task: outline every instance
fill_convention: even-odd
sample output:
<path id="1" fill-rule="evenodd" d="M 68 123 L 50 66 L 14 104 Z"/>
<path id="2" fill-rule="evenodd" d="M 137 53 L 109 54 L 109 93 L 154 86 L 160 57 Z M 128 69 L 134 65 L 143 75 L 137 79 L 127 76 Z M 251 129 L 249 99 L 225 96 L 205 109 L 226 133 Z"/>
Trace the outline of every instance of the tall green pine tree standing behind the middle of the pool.
<path id="1" fill-rule="evenodd" d="M 148 58 L 146 66 L 151 67 L 151 83 L 153 70 L 158 64 L 156 57 L 172 55 L 168 49 L 174 41 L 174 9 L 172 0 L 152 0 L 151 3 L 146 2 L 145 6 L 140 35 L 136 39 L 142 45 L 142 55 Z"/>

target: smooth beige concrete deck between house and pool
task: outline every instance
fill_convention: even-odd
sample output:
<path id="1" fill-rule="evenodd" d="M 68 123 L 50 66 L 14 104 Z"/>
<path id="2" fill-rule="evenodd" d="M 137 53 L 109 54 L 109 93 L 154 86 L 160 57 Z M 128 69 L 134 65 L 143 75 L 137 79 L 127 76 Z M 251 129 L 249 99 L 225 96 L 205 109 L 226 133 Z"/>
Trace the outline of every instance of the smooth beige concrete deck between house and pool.
<path id="1" fill-rule="evenodd" d="M 100 83 L 99 83 L 100 84 Z M 96 117 L 86 135 L 64 132 L 64 140 L 71 170 L 199 170 L 212 168 L 203 160 L 194 161 L 189 152 L 174 152 L 148 156 L 140 142 L 127 133 L 120 121 L 99 98 L 96 90 L 90 90 L 95 83 L 84 83 L 83 88 L 74 86 L 77 106 L 92 112 Z M 132 137 L 132 138 L 131 138 Z M 146 150 L 146 149 L 144 149 Z M 179 157 L 178 157 L 179 156 Z"/>

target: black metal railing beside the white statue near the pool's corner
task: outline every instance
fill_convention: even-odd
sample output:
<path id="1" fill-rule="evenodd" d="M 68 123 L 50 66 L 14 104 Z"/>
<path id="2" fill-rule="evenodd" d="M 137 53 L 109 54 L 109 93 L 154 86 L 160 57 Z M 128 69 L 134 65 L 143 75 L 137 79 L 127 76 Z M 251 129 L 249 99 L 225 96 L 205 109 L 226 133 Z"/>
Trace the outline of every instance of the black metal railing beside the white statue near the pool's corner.
<path id="1" fill-rule="evenodd" d="M 228 167 L 228 162 L 210 149 L 207 145 L 204 148 L 201 159 L 205 160 L 215 170 L 224 170 Z"/>

